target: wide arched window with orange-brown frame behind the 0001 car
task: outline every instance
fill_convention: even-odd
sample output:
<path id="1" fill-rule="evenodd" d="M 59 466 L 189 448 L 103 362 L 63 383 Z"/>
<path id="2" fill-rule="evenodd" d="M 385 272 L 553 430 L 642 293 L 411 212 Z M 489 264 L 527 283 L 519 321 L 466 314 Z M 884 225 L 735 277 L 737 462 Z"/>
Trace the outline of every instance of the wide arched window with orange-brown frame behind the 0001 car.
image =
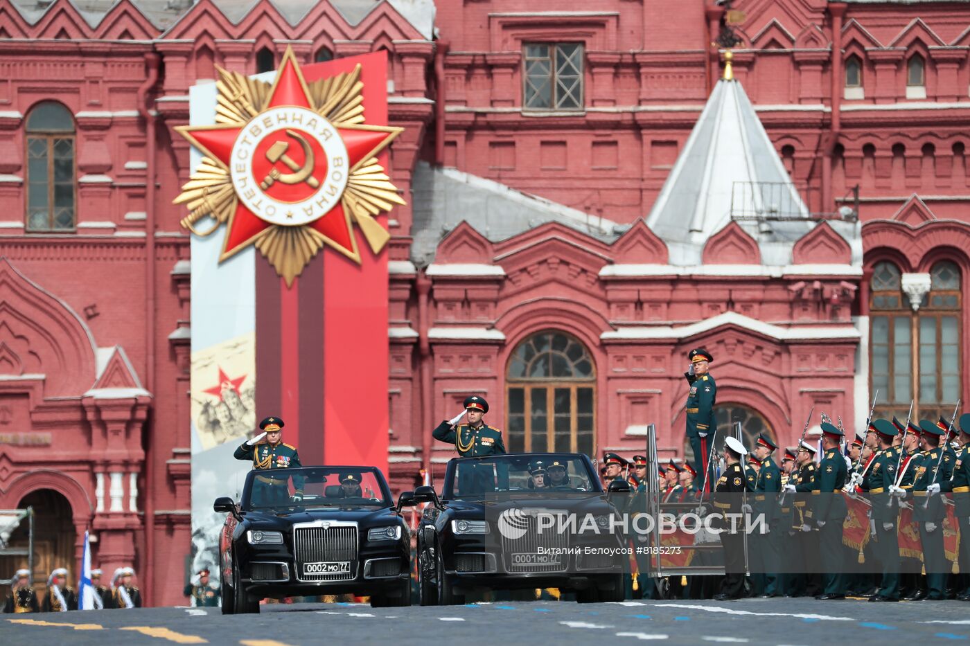
<path id="1" fill-rule="evenodd" d="M 505 376 L 509 452 L 595 455 L 596 370 L 582 342 L 537 333 L 512 352 Z"/>

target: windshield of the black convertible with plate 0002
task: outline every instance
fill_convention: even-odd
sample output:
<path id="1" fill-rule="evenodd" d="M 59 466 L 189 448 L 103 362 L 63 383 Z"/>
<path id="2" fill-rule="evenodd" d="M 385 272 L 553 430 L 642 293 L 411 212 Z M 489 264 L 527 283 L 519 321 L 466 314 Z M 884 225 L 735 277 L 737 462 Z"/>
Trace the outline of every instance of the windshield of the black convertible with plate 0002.
<path id="1" fill-rule="evenodd" d="M 373 467 L 304 467 L 252 470 L 242 509 L 387 507 L 391 492 Z"/>

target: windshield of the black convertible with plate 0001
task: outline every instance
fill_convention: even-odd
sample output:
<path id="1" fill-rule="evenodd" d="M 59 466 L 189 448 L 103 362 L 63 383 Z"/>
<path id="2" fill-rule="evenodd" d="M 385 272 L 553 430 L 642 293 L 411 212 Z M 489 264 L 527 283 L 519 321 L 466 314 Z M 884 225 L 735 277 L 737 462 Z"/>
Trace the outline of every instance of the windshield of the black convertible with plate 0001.
<path id="1" fill-rule="evenodd" d="M 575 453 L 521 453 L 455 459 L 448 464 L 444 498 L 495 494 L 548 495 L 601 492 L 589 459 Z"/>

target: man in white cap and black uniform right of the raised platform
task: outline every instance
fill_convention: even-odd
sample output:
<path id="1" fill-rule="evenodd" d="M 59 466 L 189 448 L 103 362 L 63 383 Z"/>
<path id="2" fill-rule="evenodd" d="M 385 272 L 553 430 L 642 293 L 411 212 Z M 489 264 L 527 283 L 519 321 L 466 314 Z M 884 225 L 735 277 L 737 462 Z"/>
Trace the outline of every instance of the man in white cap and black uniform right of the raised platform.
<path id="1" fill-rule="evenodd" d="M 748 451 L 744 444 L 734 437 L 725 438 L 725 461 L 727 468 L 718 478 L 714 493 L 714 506 L 723 517 L 721 544 L 725 550 L 725 578 L 721 584 L 721 594 L 714 599 L 727 601 L 740 598 L 744 593 L 744 523 L 743 496 L 746 491 L 744 469 L 741 458 Z"/>

